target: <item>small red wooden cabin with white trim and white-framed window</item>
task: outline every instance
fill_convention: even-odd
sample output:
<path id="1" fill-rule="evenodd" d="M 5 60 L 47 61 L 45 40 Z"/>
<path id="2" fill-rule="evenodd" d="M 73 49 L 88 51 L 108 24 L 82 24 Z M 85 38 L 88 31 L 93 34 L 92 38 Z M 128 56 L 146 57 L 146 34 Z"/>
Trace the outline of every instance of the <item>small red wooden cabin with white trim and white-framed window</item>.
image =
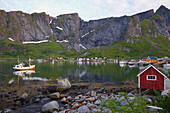
<path id="1" fill-rule="evenodd" d="M 165 90 L 168 78 L 153 65 L 139 72 L 138 88 Z"/>

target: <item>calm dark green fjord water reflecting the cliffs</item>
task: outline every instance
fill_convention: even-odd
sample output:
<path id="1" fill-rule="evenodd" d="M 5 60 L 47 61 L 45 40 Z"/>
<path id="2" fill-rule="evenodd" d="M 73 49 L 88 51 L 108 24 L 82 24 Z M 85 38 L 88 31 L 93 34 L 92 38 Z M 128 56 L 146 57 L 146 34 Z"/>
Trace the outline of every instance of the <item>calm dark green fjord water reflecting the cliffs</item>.
<path id="1" fill-rule="evenodd" d="M 115 63 L 77 63 L 77 62 L 32 62 L 36 65 L 35 72 L 20 73 L 13 70 L 17 61 L 6 60 L 0 62 L 0 82 L 9 83 L 20 79 L 32 81 L 55 80 L 68 78 L 73 82 L 122 82 L 137 80 L 138 68 L 120 67 Z"/>

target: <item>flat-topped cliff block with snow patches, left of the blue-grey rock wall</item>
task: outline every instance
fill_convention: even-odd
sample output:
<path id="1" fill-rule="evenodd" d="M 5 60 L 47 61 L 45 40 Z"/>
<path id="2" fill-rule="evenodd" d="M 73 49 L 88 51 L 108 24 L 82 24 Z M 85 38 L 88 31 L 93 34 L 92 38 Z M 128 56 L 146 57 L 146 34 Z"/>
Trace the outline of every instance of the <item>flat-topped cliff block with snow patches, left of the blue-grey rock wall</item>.
<path id="1" fill-rule="evenodd" d="M 80 50 L 79 26 L 81 19 L 77 13 L 59 15 L 50 22 L 54 40 L 57 42 L 68 42 L 68 49 Z"/>

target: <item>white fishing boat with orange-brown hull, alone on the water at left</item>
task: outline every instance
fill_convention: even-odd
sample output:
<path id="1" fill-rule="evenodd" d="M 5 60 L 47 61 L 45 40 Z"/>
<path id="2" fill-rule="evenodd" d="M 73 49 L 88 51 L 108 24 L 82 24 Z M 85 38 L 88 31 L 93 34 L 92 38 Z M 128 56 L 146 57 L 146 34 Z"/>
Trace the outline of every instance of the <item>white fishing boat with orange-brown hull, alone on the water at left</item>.
<path id="1" fill-rule="evenodd" d="M 18 59 L 18 65 L 15 65 L 13 67 L 14 70 L 17 70 L 17 71 L 22 71 L 22 70 L 35 70 L 35 65 L 31 65 L 30 64 L 31 62 L 31 59 L 29 58 L 29 65 L 28 66 L 25 66 L 24 63 L 19 63 L 19 59 Z"/>

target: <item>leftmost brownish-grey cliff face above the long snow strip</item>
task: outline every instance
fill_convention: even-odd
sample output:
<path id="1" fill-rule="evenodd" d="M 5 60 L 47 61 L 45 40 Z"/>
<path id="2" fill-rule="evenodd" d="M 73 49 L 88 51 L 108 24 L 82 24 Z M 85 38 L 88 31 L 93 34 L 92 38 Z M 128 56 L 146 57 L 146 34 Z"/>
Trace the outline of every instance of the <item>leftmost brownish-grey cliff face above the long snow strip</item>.
<path id="1" fill-rule="evenodd" d="M 30 15 L 21 11 L 0 10 L 0 40 L 9 37 L 16 41 L 48 39 L 51 36 L 51 19 L 45 13 Z"/>

